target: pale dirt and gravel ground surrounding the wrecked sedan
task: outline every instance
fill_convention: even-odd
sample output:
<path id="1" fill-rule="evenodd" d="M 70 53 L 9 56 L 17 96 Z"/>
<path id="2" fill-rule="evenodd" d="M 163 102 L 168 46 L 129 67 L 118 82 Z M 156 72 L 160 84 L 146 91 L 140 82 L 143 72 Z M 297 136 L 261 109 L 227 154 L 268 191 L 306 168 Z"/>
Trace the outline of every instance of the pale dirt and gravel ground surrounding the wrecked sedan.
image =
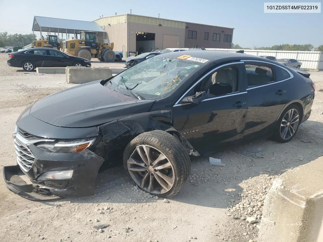
<path id="1" fill-rule="evenodd" d="M 8 67 L 6 58 L 7 54 L 0 54 L 1 167 L 16 164 L 11 134 L 19 113 L 35 100 L 73 86 L 65 82 L 65 75 Z M 311 72 L 311 78 L 317 90 L 323 88 L 322 72 Z M 291 142 L 260 140 L 214 153 L 226 164 L 223 167 L 211 166 L 208 157 L 193 158 L 189 180 L 168 203 L 133 187 L 122 167 L 98 175 L 95 196 L 57 202 L 19 197 L 5 187 L 0 175 L 0 238 L 6 242 L 256 241 L 263 200 L 274 178 L 323 155 L 322 114 L 323 92 L 316 91 L 312 114 Z M 256 159 L 254 152 L 246 150 L 263 158 Z M 246 222 L 250 216 L 258 221 Z M 109 227 L 101 232 L 93 228 L 102 224 Z"/>

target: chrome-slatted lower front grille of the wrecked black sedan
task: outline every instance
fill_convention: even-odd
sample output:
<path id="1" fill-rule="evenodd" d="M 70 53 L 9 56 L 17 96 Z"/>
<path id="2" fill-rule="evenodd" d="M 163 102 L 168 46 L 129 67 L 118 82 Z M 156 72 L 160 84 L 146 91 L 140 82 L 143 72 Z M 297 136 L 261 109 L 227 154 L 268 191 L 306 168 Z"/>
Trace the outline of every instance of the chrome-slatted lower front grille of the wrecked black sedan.
<path id="1" fill-rule="evenodd" d="M 15 150 L 18 165 L 26 172 L 29 171 L 30 167 L 35 162 L 35 156 L 31 153 L 30 149 L 17 138 L 15 138 Z"/>

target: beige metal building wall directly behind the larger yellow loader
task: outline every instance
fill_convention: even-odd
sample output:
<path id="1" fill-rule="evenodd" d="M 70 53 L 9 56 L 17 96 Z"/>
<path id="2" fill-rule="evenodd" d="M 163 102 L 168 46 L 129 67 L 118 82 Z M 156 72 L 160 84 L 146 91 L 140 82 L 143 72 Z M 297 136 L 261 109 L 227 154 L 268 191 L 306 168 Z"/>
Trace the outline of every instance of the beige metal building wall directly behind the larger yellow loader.
<path id="1" fill-rule="evenodd" d="M 103 17 L 94 20 L 98 25 L 100 25 L 106 32 L 102 41 L 107 39 L 109 43 L 114 43 L 114 51 L 127 50 L 127 15 L 115 15 L 110 17 Z M 98 41 L 100 41 L 102 36 L 98 36 Z M 122 47 L 124 46 L 124 47 Z"/>

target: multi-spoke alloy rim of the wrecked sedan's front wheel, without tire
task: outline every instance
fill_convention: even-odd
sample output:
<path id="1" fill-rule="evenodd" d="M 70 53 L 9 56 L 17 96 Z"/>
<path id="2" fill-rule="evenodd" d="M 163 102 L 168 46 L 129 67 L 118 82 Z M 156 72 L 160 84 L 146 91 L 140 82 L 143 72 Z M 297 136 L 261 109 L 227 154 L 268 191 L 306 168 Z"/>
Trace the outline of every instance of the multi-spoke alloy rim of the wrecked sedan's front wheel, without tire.
<path id="1" fill-rule="evenodd" d="M 127 160 L 127 167 L 135 183 L 147 192 L 163 194 L 174 185 L 175 175 L 171 162 L 152 146 L 136 146 Z"/>

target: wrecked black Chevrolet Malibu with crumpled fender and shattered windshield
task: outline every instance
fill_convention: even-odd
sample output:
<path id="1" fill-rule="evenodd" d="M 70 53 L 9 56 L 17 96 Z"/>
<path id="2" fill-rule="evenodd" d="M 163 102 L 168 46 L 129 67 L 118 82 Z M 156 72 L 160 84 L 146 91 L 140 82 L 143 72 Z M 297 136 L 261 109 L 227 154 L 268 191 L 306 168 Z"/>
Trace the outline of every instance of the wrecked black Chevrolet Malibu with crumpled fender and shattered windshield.
<path id="1" fill-rule="evenodd" d="M 36 200 L 93 195 L 102 163 L 123 160 L 138 187 L 172 197 L 192 155 L 295 136 L 315 91 L 297 71 L 241 53 L 172 52 L 44 97 L 17 119 L 17 165 L 4 167 L 6 186 Z"/>

